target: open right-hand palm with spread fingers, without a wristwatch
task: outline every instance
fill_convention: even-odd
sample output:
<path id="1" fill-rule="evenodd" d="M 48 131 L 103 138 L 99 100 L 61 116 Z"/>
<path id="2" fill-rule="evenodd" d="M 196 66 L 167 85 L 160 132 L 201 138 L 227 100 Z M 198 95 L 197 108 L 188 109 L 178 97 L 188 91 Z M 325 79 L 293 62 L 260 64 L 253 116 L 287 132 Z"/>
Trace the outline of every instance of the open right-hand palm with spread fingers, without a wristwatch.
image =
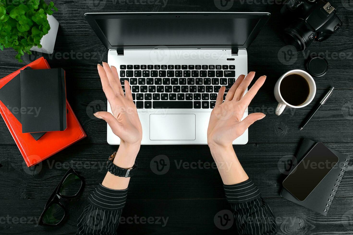
<path id="1" fill-rule="evenodd" d="M 255 72 L 250 72 L 246 77 L 240 75 L 229 89 L 224 102 L 225 87 L 221 87 L 208 124 L 207 141 L 210 148 L 232 146 L 232 142 L 241 136 L 251 124 L 265 117 L 263 113 L 251 113 L 241 121 L 247 106 L 266 79 L 266 76 L 261 76 L 244 95 L 254 76 Z"/>

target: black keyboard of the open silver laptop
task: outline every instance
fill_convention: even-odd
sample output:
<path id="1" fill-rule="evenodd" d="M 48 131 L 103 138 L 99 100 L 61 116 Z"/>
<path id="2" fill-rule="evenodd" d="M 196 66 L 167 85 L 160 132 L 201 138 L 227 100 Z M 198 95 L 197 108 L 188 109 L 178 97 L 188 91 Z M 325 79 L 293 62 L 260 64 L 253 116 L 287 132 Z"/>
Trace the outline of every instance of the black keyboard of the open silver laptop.
<path id="1" fill-rule="evenodd" d="M 234 65 L 120 65 L 137 109 L 213 109 L 221 86 L 235 82 Z M 125 92 L 124 85 L 122 89 Z"/>

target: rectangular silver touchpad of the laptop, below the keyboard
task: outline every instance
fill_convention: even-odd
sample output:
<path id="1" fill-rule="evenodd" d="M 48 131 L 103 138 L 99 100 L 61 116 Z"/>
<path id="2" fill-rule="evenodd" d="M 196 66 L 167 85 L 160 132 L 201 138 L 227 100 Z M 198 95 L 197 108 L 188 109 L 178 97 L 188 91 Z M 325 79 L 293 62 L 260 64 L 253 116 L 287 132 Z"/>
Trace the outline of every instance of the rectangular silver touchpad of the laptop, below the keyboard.
<path id="1" fill-rule="evenodd" d="M 195 114 L 151 114 L 150 140 L 195 140 Z"/>

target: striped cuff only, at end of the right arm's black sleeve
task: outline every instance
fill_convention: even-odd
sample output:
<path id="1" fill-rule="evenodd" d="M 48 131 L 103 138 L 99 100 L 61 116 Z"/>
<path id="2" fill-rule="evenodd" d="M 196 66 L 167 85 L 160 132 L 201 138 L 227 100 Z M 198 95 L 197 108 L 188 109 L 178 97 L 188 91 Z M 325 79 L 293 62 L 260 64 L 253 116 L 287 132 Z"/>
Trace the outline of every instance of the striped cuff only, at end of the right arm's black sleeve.
<path id="1" fill-rule="evenodd" d="M 223 185 L 229 203 L 244 203 L 261 197 L 261 193 L 251 179 L 239 184 Z"/>

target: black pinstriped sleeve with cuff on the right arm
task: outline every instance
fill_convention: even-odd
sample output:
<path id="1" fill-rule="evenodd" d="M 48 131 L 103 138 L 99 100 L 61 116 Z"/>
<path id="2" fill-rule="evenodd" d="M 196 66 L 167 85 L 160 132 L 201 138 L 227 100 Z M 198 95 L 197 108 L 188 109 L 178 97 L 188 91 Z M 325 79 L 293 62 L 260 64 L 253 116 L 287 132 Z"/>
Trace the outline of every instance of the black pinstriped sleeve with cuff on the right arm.
<path id="1" fill-rule="evenodd" d="M 270 235 L 277 233 L 276 218 L 250 179 L 234 185 L 223 185 L 231 203 L 234 222 L 240 235 Z"/>

